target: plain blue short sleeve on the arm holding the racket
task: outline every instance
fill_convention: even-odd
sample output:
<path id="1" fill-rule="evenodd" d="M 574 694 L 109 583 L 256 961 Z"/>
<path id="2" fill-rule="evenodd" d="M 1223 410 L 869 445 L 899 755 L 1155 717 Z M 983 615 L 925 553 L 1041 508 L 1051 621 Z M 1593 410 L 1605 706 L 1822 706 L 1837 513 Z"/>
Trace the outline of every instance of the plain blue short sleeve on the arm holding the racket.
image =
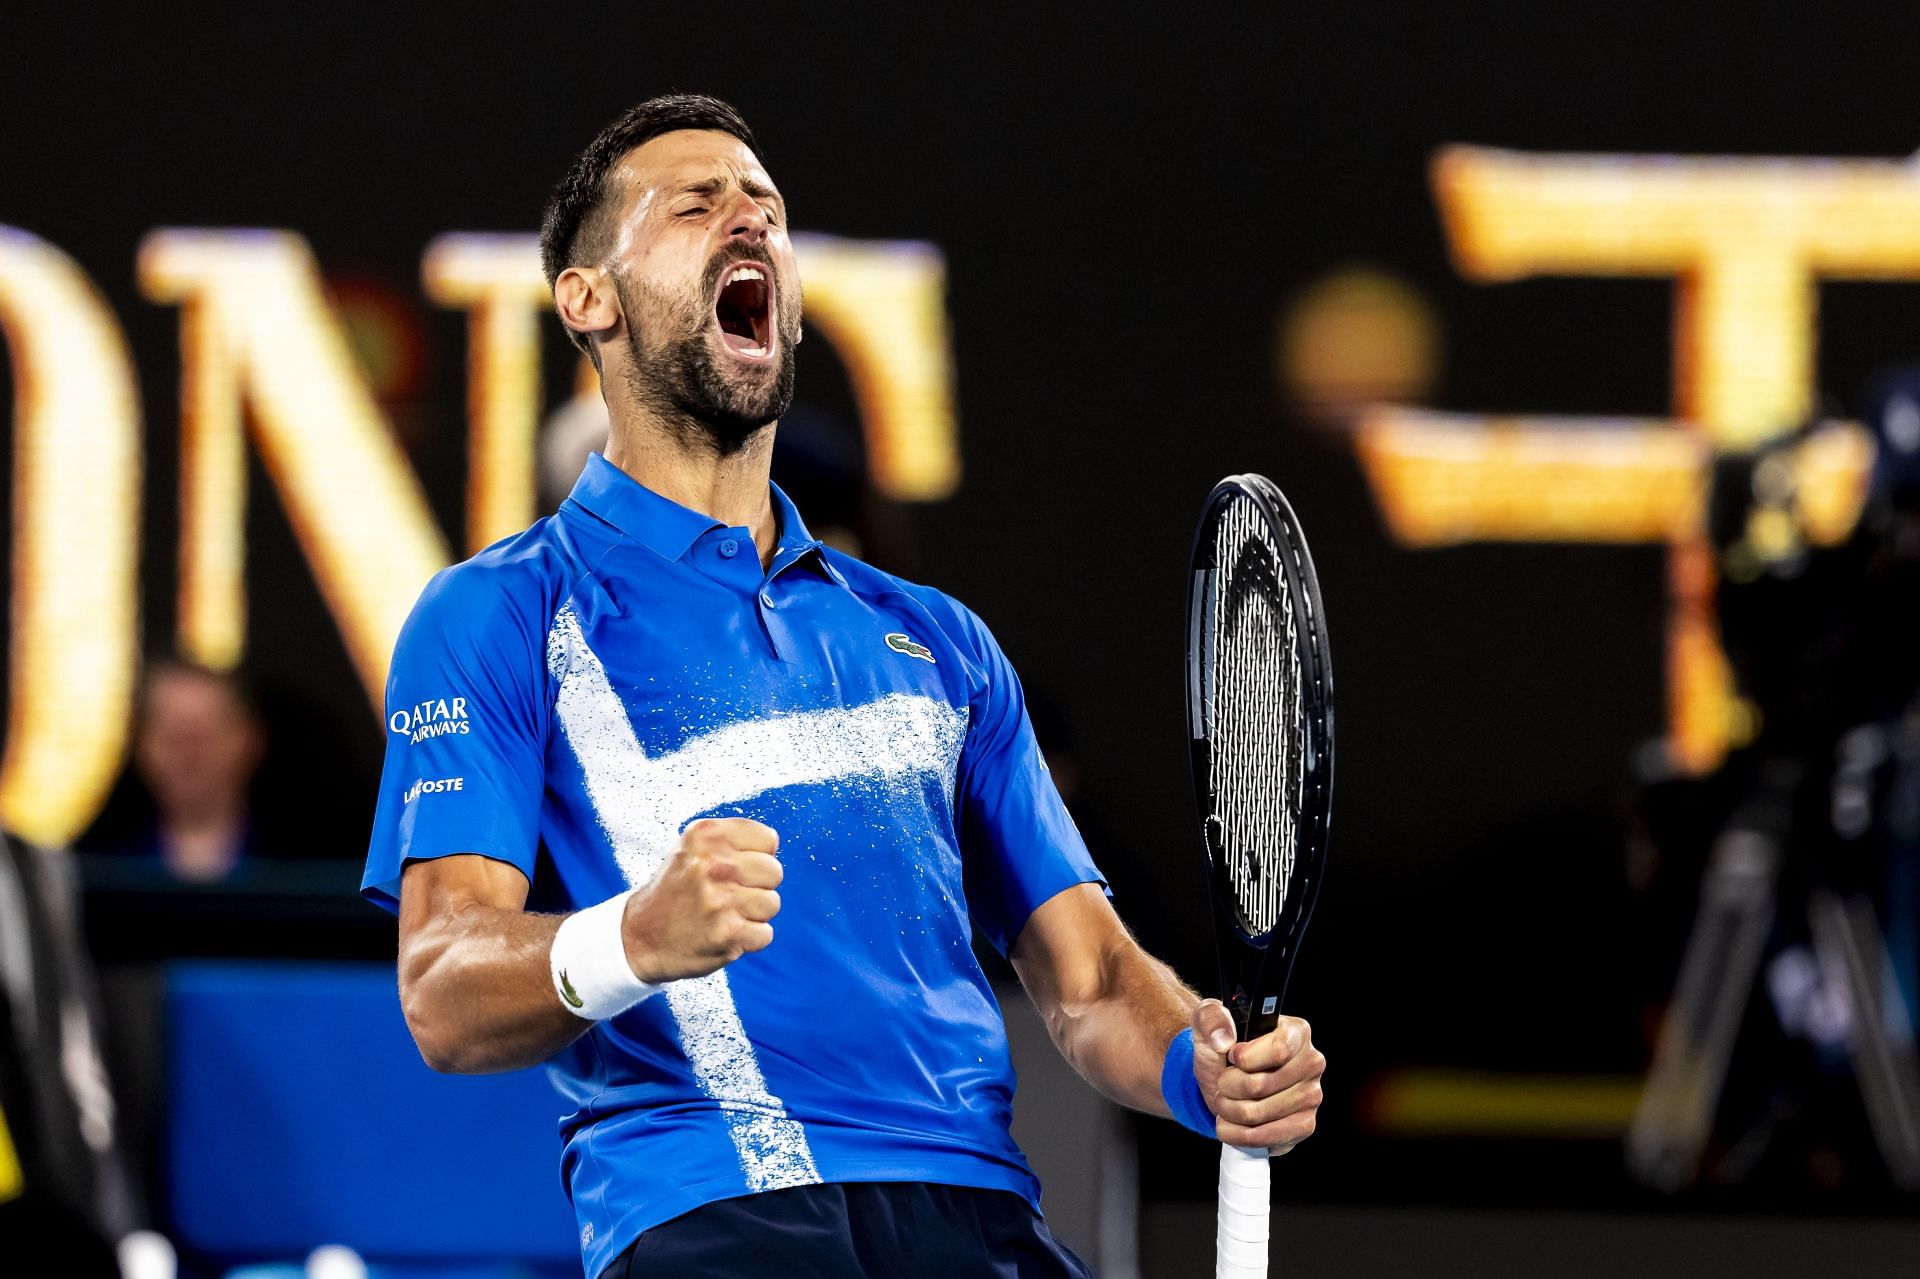
<path id="1" fill-rule="evenodd" d="M 960 624 L 981 674 L 956 778 L 968 912 L 1006 954 L 1041 903 L 1106 880 L 1046 770 L 1012 663 L 970 611 Z"/>

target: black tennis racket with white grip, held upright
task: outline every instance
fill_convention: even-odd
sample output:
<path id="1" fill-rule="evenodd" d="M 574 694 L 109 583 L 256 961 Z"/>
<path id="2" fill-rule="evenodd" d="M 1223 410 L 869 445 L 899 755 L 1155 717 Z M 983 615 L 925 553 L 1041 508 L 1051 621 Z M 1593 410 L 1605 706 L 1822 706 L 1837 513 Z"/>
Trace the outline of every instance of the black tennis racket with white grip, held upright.
<path id="1" fill-rule="evenodd" d="M 1187 709 L 1221 999 L 1254 1039 L 1279 1024 L 1332 799 L 1327 616 L 1300 520 L 1265 476 L 1227 476 L 1200 515 Z M 1263 1277 L 1267 1233 L 1267 1152 L 1223 1145 L 1215 1275 Z"/>

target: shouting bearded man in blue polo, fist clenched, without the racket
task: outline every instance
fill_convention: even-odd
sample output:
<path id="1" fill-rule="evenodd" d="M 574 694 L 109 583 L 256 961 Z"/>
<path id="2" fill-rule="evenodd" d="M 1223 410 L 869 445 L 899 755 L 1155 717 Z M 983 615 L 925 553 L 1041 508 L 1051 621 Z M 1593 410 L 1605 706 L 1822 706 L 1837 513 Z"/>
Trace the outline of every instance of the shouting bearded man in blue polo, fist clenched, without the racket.
<path id="1" fill-rule="evenodd" d="M 768 482 L 801 280 L 747 123 L 630 109 L 541 255 L 607 453 L 420 595 L 363 891 L 428 1064 L 553 1060 L 588 1275 L 1085 1275 L 970 928 L 1114 1100 L 1311 1133 L 1308 1026 L 1236 1045 L 1135 945 L 979 618 Z"/>

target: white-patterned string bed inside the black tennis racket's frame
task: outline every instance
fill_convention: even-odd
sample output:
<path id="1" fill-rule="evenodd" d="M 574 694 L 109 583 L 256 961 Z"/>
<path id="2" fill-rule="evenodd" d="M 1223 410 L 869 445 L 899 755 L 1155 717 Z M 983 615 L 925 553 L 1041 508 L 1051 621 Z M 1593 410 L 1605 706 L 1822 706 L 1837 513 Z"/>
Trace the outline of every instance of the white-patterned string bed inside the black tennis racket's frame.
<path id="1" fill-rule="evenodd" d="M 1213 542 L 1210 784 L 1219 857 L 1252 935 L 1281 922 L 1306 784 L 1300 626 L 1283 551 L 1235 497 Z"/>

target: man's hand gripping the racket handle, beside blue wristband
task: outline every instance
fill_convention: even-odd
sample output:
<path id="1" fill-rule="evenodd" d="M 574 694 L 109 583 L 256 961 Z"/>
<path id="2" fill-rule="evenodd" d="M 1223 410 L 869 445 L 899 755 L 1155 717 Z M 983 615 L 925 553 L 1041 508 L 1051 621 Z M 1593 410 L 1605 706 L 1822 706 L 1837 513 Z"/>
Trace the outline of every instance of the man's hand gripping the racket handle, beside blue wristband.
<path id="1" fill-rule="evenodd" d="M 1286 1154 L 1313 1133 L 1327 1058 L 1311 1026 L 1281 1018 L 1260 1039 L 1235 1043 L 1233 1014 L 1217 999 L 1194 1008 L 1192 1026 L 1194 1079 L 1221 1141 Z"/>

